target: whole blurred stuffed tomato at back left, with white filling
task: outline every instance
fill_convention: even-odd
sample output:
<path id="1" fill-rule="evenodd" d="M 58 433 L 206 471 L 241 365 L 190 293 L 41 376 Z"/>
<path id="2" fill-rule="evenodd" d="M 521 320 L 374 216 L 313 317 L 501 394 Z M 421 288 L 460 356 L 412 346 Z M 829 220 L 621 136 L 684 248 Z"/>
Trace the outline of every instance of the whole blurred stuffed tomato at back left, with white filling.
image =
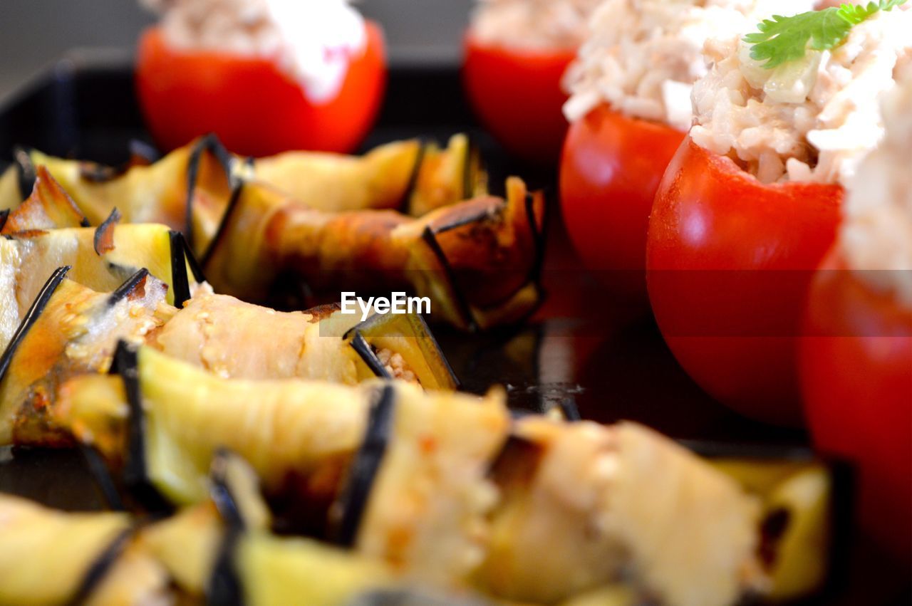
<path id="1" fill-rule="evenodd" d="M 348 152 L 386 86 L 380 27 L 343 0 L 207 0 L 160 6 L 140 38 L 136 86 L 153 138 L 171 150 L 214 132 L 251 156 Z"/>

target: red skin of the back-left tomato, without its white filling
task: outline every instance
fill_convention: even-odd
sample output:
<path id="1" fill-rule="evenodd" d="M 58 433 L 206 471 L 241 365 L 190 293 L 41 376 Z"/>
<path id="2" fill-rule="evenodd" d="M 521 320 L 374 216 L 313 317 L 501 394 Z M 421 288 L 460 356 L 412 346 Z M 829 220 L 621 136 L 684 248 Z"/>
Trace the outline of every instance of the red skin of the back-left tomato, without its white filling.
<path id="1" fill-rule="evenodd" d="M 214 132 L 228 149 L 257 157 L 354 150 L 377 117 L 387 77 L 383 33 L 366 26 L 365 52 L 352 58 L 337 96 L 323 103 L 308 99 L 275 61 L 175 50 L 151 27 L 140 38 L 136 85 L 153 138 L 171 150 Z"/>

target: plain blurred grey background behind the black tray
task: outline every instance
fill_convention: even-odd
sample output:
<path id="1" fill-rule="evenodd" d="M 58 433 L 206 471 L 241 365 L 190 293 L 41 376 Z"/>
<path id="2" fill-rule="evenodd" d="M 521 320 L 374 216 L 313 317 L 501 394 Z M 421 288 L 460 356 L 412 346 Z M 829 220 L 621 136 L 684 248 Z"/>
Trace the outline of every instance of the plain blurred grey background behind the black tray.
<path id="1" fill-rule="evenodd" d="M 390 59 L 401 64 L 454 64 L 472 0 L 361 0 L 378 20 Z M 137 0 L 0 0 L 0 98 L 67 50 L 105 47 L 130 53 L 154 21 Z"/>

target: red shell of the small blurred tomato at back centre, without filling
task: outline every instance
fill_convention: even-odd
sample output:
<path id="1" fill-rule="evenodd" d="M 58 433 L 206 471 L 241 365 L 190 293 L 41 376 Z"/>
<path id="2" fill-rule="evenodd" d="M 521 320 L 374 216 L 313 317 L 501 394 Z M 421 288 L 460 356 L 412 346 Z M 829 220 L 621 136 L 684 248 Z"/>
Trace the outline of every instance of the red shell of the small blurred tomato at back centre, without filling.
<path id="1" fill-rule="evenodd" d="M 484 127 L 522 159 L 556 161 L 567 128 L 561 77 L 576 49 L 485 45 L 471 33 L 463 46 L 462 79 Z"/>

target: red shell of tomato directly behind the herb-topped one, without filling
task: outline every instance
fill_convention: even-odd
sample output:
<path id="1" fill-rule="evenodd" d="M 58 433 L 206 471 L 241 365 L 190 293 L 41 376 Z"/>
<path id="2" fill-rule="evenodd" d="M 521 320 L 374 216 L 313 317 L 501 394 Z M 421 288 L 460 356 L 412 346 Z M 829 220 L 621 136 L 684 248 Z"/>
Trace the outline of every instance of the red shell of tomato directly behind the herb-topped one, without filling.
<path id="1" fill-rule="evenodd" d="M 576 251 L 608 287 L 644 304 L 649 211 L 682 139 L 602 105 L 570 126 L 564 144 L 561 210 Z"/>

